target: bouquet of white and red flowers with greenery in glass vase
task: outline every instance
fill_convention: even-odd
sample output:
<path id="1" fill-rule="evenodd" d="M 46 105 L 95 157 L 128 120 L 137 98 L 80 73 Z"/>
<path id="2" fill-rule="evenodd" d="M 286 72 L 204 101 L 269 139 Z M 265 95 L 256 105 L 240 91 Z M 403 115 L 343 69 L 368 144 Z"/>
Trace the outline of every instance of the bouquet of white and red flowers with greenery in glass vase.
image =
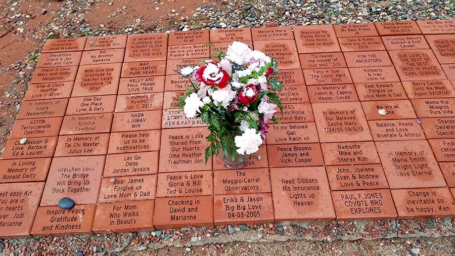
<path id="1" fill-rule="evenodd" d="M 206 163 L 219 154 L 224 165 L 240 168 L 265 139 L 267 121 L 278 123 L 274 114 L 277 107 L 283 109 L 276 92 L 283 83 L 274 77 L 277 61 L 242 42 L 233 42 L 226 53 L 214 50 L 211 57 L 219 61 L 201 61 L 200 66 L 176 70 L 192 84 L 186 96 L 179 96 L 177 106 L 187 118 L 198 116 L 209 125 Z"/>

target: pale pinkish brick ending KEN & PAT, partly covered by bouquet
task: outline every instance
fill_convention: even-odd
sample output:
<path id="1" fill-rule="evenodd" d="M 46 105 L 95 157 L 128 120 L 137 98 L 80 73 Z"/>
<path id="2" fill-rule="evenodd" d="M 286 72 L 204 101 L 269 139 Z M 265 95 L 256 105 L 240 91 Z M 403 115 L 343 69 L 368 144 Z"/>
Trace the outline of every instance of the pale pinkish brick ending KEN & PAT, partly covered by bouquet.
<path id="1" fill-rule="evenodd" d="M 179 109 L 163 110 L 163 118 L 161 120 L 161 128 L 185 128 L 185 127 L 201 127 L 208 126 L 200 117 L 187 118 L 183 111 Z"/>

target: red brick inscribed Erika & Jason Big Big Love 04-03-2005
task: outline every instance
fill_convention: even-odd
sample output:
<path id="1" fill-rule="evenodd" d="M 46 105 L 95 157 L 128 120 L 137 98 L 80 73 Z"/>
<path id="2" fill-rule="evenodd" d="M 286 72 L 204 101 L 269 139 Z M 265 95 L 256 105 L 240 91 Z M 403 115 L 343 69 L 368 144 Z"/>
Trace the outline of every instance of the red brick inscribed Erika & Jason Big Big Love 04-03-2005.
<path id="1" fill-rule="evenodd" d="M 213 196 L 215 225 L 253 224 L 275 220 L 271 193 Z"/>

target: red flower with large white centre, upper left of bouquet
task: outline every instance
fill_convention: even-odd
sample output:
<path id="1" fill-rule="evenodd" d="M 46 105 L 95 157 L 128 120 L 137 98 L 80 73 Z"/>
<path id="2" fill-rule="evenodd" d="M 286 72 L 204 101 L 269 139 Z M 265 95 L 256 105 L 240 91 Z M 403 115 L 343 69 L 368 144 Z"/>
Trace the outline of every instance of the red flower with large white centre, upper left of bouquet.
<path id="1" fill-rule="evenodd" d="M 195 77 L 200 82 L 204 82 L 209 86 L 217 86 L 218 88 L 226 87 L 229 79 L 231 79 L 226 71 L 218 68 L 213 62 L 200 67 L 196 71 Z"/>

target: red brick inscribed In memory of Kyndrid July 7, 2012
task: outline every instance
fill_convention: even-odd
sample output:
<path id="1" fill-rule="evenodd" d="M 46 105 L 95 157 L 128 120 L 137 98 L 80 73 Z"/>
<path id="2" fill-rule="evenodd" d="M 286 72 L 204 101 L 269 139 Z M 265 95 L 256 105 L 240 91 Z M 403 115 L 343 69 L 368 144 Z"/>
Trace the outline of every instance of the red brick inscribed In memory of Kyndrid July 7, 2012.
<path id="1" fill-rule="evenodd" d="M 163 108 L 163 93 L 118 95 L 115 112 L 160 110 Z"/>

